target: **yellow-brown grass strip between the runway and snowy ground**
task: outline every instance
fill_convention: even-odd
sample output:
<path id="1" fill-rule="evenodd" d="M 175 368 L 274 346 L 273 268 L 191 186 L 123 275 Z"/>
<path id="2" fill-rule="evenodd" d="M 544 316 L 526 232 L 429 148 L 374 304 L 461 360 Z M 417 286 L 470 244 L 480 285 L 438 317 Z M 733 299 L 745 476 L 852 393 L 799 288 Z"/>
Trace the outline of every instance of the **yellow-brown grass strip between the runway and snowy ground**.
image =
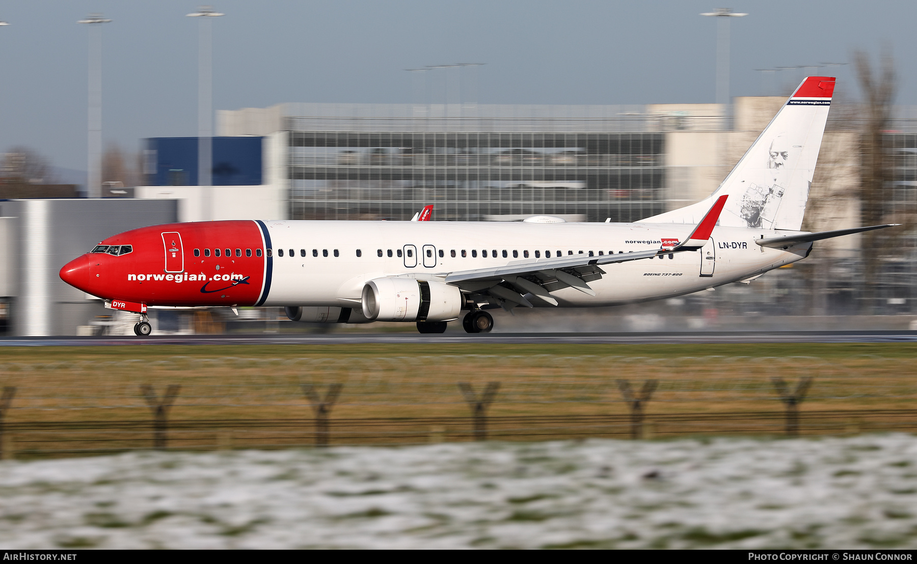
<path id="1" fill-rule="evenodd" d="M 837 433 L 910 429 L 913 415 L 889 410 L 914 408 L 915 357 L 910 343 L 8 347 L 0 386 L 16 387 L 5 446 L 20 454 L 148 446 L 142 385 L 159 396 L 182 386 L 168 418 L 171 444 L 186 448 L 308 444 L 315 412 L 303 386 L 335 384 L 333 442 L 471 439 L 459 382 L 478 394 L 500 383 L 487 409 L 497 437 L 626 436 L 621 379 L 658 380 L 644 411 L 664 437 L 779 433 L 772 379 L 811 376 L 803 432 Z M 834 415 L 805 417 L 815 412 Z"/>

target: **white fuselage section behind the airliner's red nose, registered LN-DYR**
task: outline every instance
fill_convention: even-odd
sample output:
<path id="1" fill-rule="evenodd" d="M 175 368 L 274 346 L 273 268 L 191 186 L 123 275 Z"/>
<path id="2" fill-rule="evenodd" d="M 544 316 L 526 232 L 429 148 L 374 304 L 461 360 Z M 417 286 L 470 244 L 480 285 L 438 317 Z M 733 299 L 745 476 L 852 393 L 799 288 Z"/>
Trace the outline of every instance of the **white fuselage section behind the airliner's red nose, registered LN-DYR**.
<path id="1" fill-rule="evenodd" d="M 663 239 L 684 241 L 694 228 L 690 224 L 673 223 L 271 221 L 266 224 L 271 236 L 273 267 L 271 291 L 263 305 L 345 308 L 359 307 L 363 286 L 373 278 L 407 276 L 442 280 L 453 272 L 537 264 L 546 258 L 547 252 L 554 258 L 558 253 L 608 255 L 646 251 L 659 248 Z M 671 298 L 756 277 L 801 260 L 812 246 L 800 244 L 783 250 L 754 242 L 762 236 L 774 235 L 775 232 L 765 229 L 716 227 L 711 241 L 701 251 L 602 266 L 607 274 L 589 282 L 594 297 L 572 287 L 551 295 L 561 307 L 611 306 Z"/>

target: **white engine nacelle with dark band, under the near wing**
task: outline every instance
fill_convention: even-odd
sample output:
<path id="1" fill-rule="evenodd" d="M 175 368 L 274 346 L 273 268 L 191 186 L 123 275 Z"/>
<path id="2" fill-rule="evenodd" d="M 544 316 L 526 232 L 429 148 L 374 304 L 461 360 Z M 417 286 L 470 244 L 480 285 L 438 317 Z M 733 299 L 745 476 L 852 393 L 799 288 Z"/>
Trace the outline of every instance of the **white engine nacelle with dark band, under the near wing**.
<path id="1" fill-rule="evenodd" d="M 374 321 L 458 319 L 458 287 L 416 278 L 375 278 L 363 287 L 363 316 Z"/>

